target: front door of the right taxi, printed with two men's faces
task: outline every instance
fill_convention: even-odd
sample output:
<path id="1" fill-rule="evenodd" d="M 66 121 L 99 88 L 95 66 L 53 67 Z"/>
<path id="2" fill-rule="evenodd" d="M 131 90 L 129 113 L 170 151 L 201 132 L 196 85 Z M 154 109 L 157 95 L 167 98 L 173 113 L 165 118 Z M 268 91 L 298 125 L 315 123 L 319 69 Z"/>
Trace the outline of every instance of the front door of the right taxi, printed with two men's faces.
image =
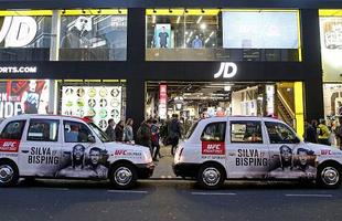
<path id="1" fill-rule="evenodd" d="M 265 122 L 269 139 L 269 179 L 313 179 L 317 175 L 314 152 L 304 147 L 282 123 Z"/>

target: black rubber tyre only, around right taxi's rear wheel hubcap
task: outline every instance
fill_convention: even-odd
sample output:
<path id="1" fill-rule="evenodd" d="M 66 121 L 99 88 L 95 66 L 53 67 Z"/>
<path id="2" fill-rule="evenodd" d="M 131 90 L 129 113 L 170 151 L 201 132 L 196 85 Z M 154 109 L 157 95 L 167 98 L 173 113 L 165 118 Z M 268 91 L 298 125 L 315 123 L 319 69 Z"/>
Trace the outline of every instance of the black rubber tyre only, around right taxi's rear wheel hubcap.
<path id="1" fill-rule="evenodd" d="M 205 181 L 203 180 L 203 172 L 210 168 L 214 168 L 220 172 L 220 179 L 217 181 L 217 183 L 213 185 L 213 186 L 209 186 L 207 183 L 205 183 Z M 209 190 L 215 190 L 215 189 L 220 189 L 225 180 L 225 172 L 222 169 L 222 167 L 217 164 L 213 164 L 213 162 L 207 162 L 204 164 L 200 167 L 199 169 L 199 173 L 197 173 L 197 182 L 200 185 L 200 187 L 202 189 L 209 189 Z"/>

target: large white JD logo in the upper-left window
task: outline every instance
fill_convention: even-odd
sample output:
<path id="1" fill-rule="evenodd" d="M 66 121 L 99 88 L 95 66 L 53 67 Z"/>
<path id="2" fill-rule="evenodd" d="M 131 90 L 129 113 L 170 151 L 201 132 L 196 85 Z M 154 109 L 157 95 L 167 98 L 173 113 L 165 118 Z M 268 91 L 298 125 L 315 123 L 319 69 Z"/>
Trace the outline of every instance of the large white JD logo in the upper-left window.
<path id="1" fill-rule="evenodd" d="M 28 45 L 36 34 L 36 23 L 32 17 L 6 17 L 0 30 L 0 43 L 4 48 Z"/>

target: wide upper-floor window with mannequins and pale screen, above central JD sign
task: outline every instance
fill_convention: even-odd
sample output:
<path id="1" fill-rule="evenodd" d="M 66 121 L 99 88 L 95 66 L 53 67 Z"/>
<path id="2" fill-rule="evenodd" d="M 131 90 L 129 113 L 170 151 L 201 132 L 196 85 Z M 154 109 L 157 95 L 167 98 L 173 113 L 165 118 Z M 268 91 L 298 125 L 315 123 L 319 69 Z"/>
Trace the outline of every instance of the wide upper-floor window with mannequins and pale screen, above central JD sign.
<path id="1" fill-rule="evenodd" d="M 147 61 L 300 61 L 297 10 L 148 9 Z"/>

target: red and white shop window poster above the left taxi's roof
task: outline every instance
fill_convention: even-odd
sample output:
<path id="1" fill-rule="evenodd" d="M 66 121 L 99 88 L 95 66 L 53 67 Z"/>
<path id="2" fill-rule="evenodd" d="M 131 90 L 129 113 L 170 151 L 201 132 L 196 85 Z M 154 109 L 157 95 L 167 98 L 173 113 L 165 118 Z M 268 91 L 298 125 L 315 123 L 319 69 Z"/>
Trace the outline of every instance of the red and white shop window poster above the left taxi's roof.
<path id="1" fill-rule="evenodd" d="M 20 114 L 46 114 L 49 81 L 24 80 L 0 82 L 0 118 Z"/>

